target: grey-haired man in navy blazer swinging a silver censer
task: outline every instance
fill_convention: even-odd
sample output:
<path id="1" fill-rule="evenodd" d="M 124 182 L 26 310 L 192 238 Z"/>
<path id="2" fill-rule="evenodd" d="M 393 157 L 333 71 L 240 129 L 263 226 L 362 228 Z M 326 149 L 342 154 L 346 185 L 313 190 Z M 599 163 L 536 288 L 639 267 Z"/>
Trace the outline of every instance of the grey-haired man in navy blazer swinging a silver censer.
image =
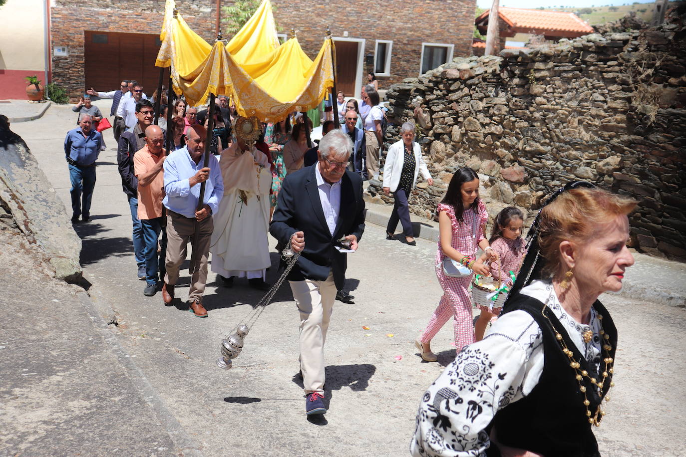
<path id="1" fill-rule="evenodd" d="M 300 311 L 300 371 L 307 415 L 327 412 L 322 401 L 324 340 L 336 291 L 345 282 L 345 251 L 357 250 L 364 232 L 362 178 L 346 170 L 352 150 L 347 134 L 326 134 L 319 143 L 318 162 L 283 180 L 270 225 L 279 249 L 290 243 L 301 252 L 287 279 Z"/>

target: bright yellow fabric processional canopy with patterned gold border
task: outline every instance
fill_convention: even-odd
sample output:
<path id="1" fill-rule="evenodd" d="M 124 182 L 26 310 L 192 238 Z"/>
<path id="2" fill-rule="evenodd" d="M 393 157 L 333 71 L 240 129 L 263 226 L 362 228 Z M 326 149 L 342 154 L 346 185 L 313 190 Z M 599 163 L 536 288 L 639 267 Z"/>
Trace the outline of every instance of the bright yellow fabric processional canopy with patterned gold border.
<path id="1" fill-rule="evenodd" d="M 274 122 L 294 110 L 315 108 L 333 87 L 332 41 L 324 40 L 314 61 L 303 52 L 297 38 L 282 46 L 277 40 L 272 47 L 270 30 L 276 38 L 276 29 L 268 0 L 226 46 L 223 42 L 209 45 L 180 14 L 174 18 L 174 6 L 174 0 L 167 0 L 162 46 L 155 64 L 171 67 L 174 90 L 185 95 L 189 105 L 204 103 L 210 92 L 229 95 L 241 116 L 254 114 L 261 121 Z M 255 31 L 254 37 L 250 29 Z"/>

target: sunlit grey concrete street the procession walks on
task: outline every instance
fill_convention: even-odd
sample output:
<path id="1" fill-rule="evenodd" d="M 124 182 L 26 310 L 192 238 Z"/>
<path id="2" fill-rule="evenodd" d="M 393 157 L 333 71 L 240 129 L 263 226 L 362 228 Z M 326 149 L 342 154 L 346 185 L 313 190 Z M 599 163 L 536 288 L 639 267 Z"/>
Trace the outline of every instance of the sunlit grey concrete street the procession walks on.
<path id="1" fill-rule="evenodd" d="M 109 106 L 108 101 L 97 104 L 103 111 Z M 67 130 L 75 127 L 75 117 L 69 106 L 54 105 L 41 119 L 12 124 L 67 208 L 69 174 L 62 144 Z M 83 239 L 84 277 L 92 284 L 88 293 L 95 309 L 105 314 L 112 308 L 117 315 L 118 325 L 110 325 L 108 331 L 127 363 L 110 360 L 112 373 L 150 387 L 145 399 L 154 414 L 143 422 L 158 421 L 176 446 L 172 449 L 161 438 L 158 450 L 141 449 L 139 455 L 178 455 L 179 449 L 204 456 L 407 455 L 419 399 L 455 355 L 451 323 L 432 344 L 439 363 L 421 362 L 413 345 L 442 293 L 433 267 L 436 243 L 418 238 L 417 246 L 409 247 L 386 240 L 383 227 L 368 225 L 359 251 L 348 256 L 347 288 L 355 295 L 355 304 L 336 302 L 327 338 L 330 410 L 323 419 L 308 421 L 296 377 L 298 312 L 287 284 L 253 326 L 234 368 L 217 368 L 220 341 L 252 310 L 261 293 L 248 288 L 246 280 L 222 288 L 210 273 L 204 298 L 209 318 L 198 319 L 181 301 L 188 290 L 183 270 L 173 306 L 165 306 L 160 293 L 144 297 L 111 130 L 104 137 L 108 149 L 98 161 L 93 222 L 77 226 Z M 274 245 L 270 238 L 275 266 Z M 272 268 L 269 282 L 276 280 L 275 274 Z M 622 295 L 604 295 L 601 300 L 619 330 L 617 386 L 597 430 L 602 455 L 683 456 L 686 310 Z M 8 373 L 0 375 L 5 379 Z M 113 381 L 103 377 L 94 382 Z M 30 410 L 25 415 L 30 416 Z M 64 420 L 68 428 L 69 419 Z M 46 426 L 36 421 L 35 433 L 45 433 Z M 20 449 L 18 439 L 0 436 L 0 455 L 14 455 Z M 99 454 L 78 443 L 56 453 L 50 447 L 21 449 L 21 455 L 32 456 Z"/>

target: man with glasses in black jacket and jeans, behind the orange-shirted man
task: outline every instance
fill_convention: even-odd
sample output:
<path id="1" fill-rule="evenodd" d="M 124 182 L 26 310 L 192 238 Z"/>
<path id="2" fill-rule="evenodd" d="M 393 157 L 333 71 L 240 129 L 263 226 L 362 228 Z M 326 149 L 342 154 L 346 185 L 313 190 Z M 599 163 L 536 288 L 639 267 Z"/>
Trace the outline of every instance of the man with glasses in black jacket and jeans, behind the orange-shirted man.
<path id="1" fill-rule="evenodd" d="M 117 165 L 119 175 L 121 175 L 121 186 L 131 210 L 133 250 L 138 265 L 138 279 L 143 281 L 145 280 L 143 226 L 138 219 L 138 180 L 134 171 L 133 157 L 136 151 L 145 146 L 145 129 L 152 124 L 154 108 L 149 100 L 141 100 L 136 103 L 135 110 L 136 124 L 123 132 L 119 138 Z"/>

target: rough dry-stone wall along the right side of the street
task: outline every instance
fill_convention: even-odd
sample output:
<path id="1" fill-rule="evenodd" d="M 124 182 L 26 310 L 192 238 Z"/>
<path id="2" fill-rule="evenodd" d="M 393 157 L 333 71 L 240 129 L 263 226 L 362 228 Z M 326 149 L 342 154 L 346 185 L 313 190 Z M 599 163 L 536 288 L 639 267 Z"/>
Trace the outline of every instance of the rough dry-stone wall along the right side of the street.
<path id="1" fill-rule="evenodd" d="M 421 107 L 420 141 L 438 177 L 433 187 L 416 190 L 412 210 L 433 212 L 443 183 L 460 166 L 481 173 L 494 208 L 515 203 L 530 215 L 556 188 L 588 180 L 639 201 L 630 216 L 633 247 L 686 260 L 680 21 L 456 58 L 392 86 L 387 140 L 397 140 L 397 126 Z"/>

